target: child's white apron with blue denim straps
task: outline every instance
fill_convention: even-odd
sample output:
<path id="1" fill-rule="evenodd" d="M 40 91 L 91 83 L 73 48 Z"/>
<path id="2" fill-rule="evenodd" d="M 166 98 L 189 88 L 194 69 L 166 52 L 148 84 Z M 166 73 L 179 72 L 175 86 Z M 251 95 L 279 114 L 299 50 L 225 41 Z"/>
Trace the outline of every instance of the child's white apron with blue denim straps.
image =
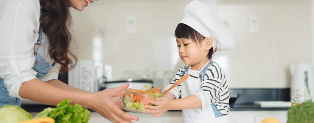
<path id="1" fill-rule="evenodd" d="M 203 67 L 203 69 L 199 73 L 200 83 L 195 83 L 193 80 L 187 79 L 186 82 L 181 84 L 181 98 L 185 98 L 193 94 L 194 92 L 200 89 L 200 84 L 202 83 L 204 76 L 206 74 L 206 70 L 208 67 L 215 62 L 208 61 L 208 64 Z M 189 68 L 183 72 L 181 72 L 181 77 L 185 75 Z M 183 123 L 230 123 L 231 118 L 230 115 L 222 115 L 217 109 L 214 103 L 211 106 L 208 106 L 206 109 L 202 109 L 202 111 L 198 111 L 197 109 L 184 109 L 182 110 Z"/>

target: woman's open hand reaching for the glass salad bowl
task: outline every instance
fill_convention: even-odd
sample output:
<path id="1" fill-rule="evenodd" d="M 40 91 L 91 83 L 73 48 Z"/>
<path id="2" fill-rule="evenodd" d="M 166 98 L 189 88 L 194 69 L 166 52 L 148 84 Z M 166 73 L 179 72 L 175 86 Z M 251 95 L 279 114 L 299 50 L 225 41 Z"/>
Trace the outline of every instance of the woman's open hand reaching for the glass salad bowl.
<path id="1" fill-rule="evenodd" d="M 91 109 L 114 123 L 132 123 L 131 120 L 138 120 L 137 117 L 129 115 L 121 109 L 121 100 L 118 99 L 124 94 L 124 91 L 120 92 L 120 90 L 129 87 L 129 85 L 125 84 L 95 93 L 89 104 Z"/>

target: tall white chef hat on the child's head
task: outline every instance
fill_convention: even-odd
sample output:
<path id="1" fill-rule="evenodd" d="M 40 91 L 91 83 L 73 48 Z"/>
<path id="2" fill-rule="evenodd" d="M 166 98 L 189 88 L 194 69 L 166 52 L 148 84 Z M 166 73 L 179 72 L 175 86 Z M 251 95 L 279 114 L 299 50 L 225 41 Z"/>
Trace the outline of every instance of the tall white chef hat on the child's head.
<path id="1" fill-rule="evenodd" d="M 216 51 L 231 50 L 234 47 L 235 41 L 227 27 L 205 3 L 194 0 L 187 4 L 179 23 L 192 27 L 204 37 L 211 37 L 213 55 Z"/>

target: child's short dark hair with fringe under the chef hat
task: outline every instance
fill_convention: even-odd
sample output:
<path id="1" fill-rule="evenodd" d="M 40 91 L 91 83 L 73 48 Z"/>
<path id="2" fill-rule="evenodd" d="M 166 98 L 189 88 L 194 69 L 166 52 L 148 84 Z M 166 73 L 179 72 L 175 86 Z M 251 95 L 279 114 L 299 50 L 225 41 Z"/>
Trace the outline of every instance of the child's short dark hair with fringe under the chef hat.
<path id="1" fill-rule="evenodd" d="M 186 25 L 186 24 L 178 24 L 176 31 L 175 31 L 175 36 L 177 38 L 187 38 L 192 40 L 195 43 L 201 42 L 203 39 L 205 39 L 204 36 L 199 34 L 196 30 L 194 30 L 192 27 Z M 207 58 L 211 59 L 213 54 L 213 47 L 209 49 L 209 52 L 207 54 Z"/>

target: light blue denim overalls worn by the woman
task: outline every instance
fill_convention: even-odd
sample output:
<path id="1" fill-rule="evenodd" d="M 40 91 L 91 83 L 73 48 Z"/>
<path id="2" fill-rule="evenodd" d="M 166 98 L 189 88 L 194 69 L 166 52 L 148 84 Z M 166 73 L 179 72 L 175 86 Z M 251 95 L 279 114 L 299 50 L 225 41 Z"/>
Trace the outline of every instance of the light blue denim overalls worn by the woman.
<path id="1" fill-rule="evenodd" d="M 42 10 L 41 10 L 42 14 Z M 41 26 L 39 27 L 39 37 L 35 45 L 41 44 L 41 36 L 42 36 L 42 29 Z M 36 60 L 33 69 L 37 72 L 36 77 L 38 79 L 42 78 L 43 76 L 47 75 L 47 73 L 56 65 L 54 62 L 53 64 L 49 64 L 37 51 L 34 49 L 34 54 L 36 54 Z M 19 98 L 10 97 L 7 87 L 4 85 L 4 80 L 0 78 L 0 108 L 3 105 L 16 105 L 20 106 L 21 101 Z"/>

